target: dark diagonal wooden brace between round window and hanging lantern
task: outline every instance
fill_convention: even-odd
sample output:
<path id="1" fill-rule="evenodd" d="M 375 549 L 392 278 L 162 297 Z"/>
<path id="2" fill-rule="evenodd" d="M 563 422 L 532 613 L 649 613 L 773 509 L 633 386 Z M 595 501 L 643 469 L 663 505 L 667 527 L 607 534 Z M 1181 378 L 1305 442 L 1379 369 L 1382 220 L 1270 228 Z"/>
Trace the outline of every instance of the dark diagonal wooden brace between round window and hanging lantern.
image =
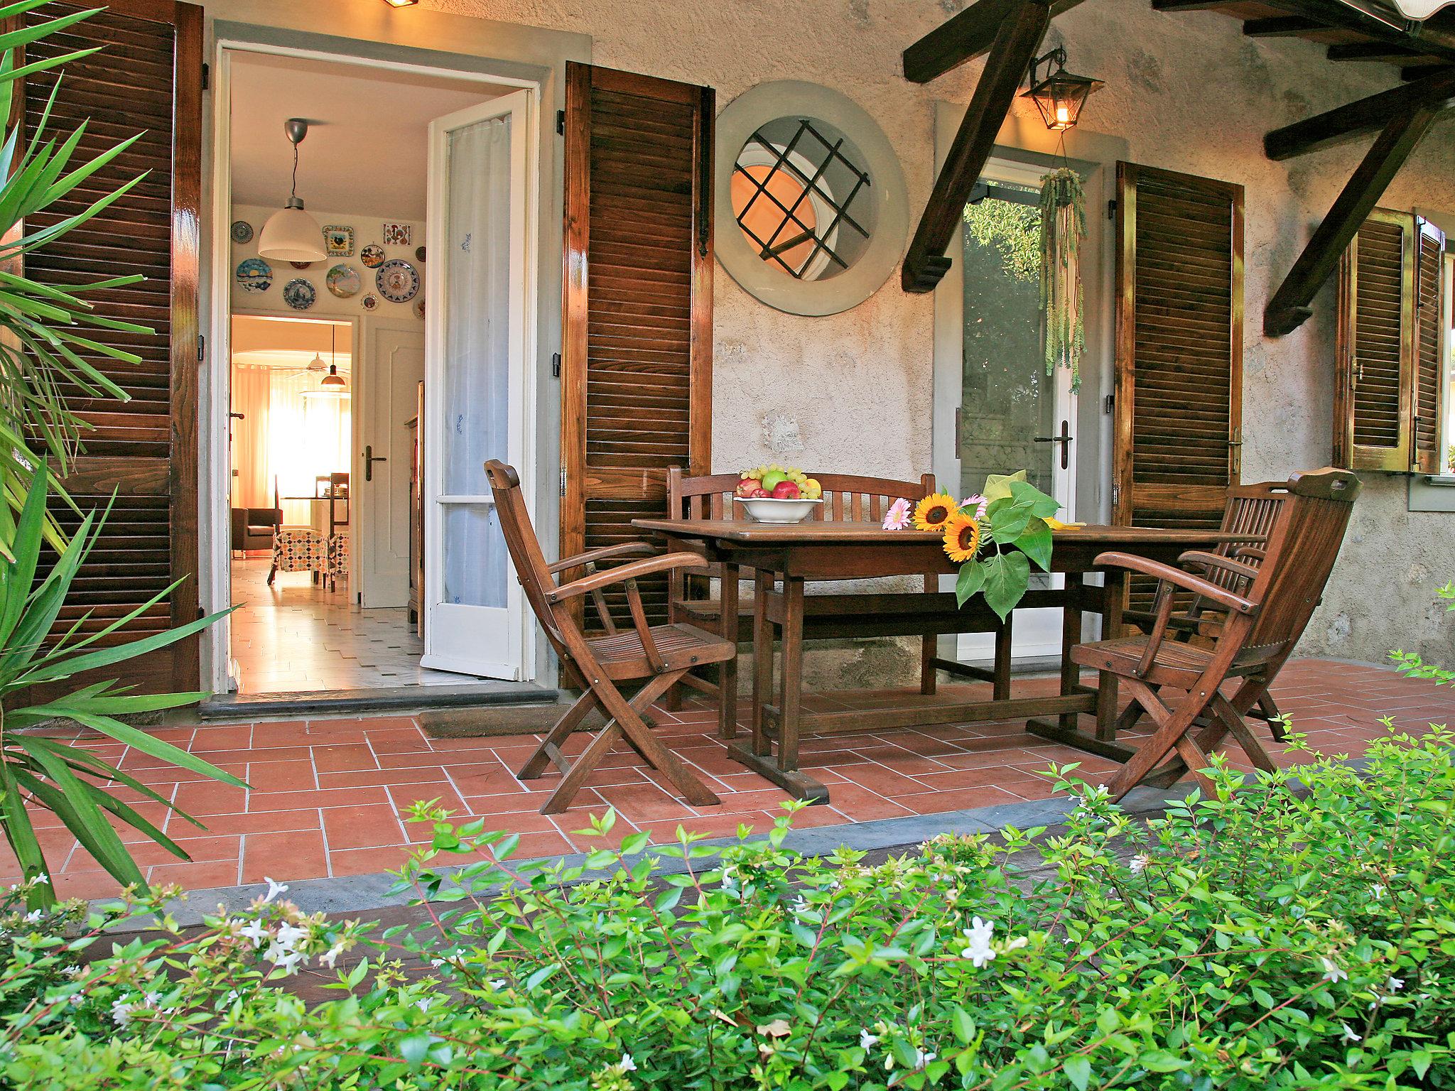
<path id="1" fill-rule="evenodd" d="M 909 252 L 899 273 L 899 282 L 906 292 L 931 291 L 950 268 L 946 250 L 959 230 L 965 202 L 981 170 L 985 169 L 985 160 L 995 147 L 995 134 L 1010 112 L 1020 80 L 1036 58 L 1049 25 L 1051 4 L 1046 0 L 1008 3 L 991 41 L 985 70 L 965 111 L 965 119 L 954 134 L 950 154 L 946 156 L 944 166 L 934 179 L 930 201 L 909 241 Z"/>

